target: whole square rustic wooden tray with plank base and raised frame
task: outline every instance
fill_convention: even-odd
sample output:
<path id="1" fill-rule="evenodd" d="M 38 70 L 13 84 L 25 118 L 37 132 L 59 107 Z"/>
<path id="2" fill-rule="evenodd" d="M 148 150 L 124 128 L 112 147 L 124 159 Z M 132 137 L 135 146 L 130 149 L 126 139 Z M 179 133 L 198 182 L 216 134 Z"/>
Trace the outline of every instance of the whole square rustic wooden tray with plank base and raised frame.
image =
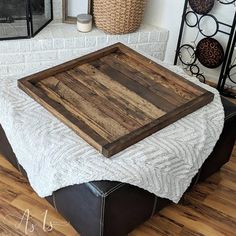
<path id="1" fill-rule="evenodd" d="M 20 79 L 18 86 L 106 157 L 214 97 L 121 43 Z"/>

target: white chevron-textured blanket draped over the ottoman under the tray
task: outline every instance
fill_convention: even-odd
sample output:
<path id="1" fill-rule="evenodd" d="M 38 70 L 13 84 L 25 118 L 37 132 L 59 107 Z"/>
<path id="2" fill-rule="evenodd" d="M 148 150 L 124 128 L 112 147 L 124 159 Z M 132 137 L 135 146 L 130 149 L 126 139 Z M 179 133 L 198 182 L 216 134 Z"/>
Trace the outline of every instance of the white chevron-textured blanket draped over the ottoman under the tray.
<path id="1" fill-rule="evenodd" d="M 224 111 L 215 89 L 178 67 L 169 68 L 213 92 L 213 102 L 110 159 L 18 89 L 19 78 L 0 79 L 0 123 L 38 195 L 45 197 L 73 184 L 111 180 L 177 203 L 212 152 L 223 129 Z"/>

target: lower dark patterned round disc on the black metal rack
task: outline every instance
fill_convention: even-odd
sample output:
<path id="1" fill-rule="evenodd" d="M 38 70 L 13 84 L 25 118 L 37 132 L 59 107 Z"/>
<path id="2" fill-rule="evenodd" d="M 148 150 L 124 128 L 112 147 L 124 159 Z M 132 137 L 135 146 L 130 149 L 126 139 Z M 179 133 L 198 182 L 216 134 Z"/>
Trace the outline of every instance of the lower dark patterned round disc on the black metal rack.
<path id="1" fill-rule="evenodd" d="M 196 47 L 196 57 L 207 68 L 217 68 L 224 60 L 224 49 L 214 38 L 200 40 Z"/>

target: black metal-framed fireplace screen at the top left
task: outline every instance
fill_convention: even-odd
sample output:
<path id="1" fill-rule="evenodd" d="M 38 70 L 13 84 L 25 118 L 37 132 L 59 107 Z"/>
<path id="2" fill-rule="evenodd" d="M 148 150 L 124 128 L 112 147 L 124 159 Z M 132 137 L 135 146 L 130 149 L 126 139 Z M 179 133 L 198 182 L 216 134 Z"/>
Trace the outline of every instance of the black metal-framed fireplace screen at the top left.
<path id="1" fill-rule="evenodd" d="M 0 40 L 34 37 L 53 19 L 52 0 L 0 0 Z"/>

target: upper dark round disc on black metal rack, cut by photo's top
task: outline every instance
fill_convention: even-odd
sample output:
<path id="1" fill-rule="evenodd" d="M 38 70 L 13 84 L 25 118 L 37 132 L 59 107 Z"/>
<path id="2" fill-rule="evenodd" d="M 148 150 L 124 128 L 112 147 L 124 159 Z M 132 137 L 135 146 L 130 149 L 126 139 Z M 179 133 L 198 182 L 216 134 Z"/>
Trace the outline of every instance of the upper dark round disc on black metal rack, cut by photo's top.
<path id="1" fill-rule="evenodd" d="M 189 0 L 189 5 L 197 14 L 207 14 L 214 7 L 215 0 Z"/>

